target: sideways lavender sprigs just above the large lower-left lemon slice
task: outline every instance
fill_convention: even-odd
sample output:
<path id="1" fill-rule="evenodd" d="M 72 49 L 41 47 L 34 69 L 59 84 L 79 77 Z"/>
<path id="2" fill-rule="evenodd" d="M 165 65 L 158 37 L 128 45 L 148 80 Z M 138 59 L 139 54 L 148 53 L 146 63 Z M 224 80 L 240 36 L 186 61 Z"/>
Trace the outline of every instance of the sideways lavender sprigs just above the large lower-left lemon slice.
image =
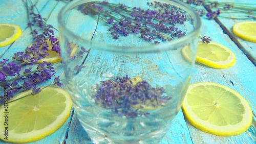
<path id="1" fill-rule="evenodd" d="M 52 67 L 53 64 L 47 62 L 39 63 L 33 71 L 31 71 L 32 67 L 25 69 L 24 66 L 17 64 L 16 61 L 7 63 L 7 60 L 3 60 L 0 63 L 5 63 L 5 65 L 2 65 L 3 69 L 0 70 L 0 89 L 6 89 L 8 91 L 8 99 L 11 99 L 17 93 L 29 89 L 33 89 L 31 94 L 34 95 L 40 92 L 40 89 L 37 87 L 39 83 L 50 80 L 55 76 L 55 71 Z M 20 73 L 22 71 L 20 70 L 21 68 L 25 69 L 23 70 L 23 74 Z M 54 82 L 56 83 L 56 81 Z M 3 104 L 3 102 L 4 95 L 1 95 L 0 104 Z"/>

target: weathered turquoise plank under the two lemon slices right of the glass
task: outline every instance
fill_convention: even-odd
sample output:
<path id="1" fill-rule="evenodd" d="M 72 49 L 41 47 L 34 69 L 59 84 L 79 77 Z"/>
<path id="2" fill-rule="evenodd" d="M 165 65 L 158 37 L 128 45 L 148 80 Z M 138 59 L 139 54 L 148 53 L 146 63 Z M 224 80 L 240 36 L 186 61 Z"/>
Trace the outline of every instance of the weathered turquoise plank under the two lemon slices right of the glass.
<path id="1" fill-rule="evenodd" d="M 230 87 L 239 92 L 249 102 L 252 110 L 255 112 L 255 74 L 256 68 L 253 63 L 243 54 L 238 46 L 224 34 L 218 23 L 212 20 L 202 19 L 203 27 L 202 35 L 210 36 L 212 41 L 227 46 L 237 58 L 234 66 L 227 69 L 215 69 L 197 63 L 191 83 L 196 82 L 215 82 Z M 218 31 L 212 31 L 218 29 Z M 254 117 L 255 121 L 255 117 Z M 193 143 L 254 143 L 252 137 L 247 133 L 238 136 L 215 136 L 202 132 L 187 122 L 190 136 Z M 250 128 L 254 129 L 252 126 Z M 254 129 L 255 131 L 255 129 Z M 255 139 L 254 139 L 255 140 Z"/>

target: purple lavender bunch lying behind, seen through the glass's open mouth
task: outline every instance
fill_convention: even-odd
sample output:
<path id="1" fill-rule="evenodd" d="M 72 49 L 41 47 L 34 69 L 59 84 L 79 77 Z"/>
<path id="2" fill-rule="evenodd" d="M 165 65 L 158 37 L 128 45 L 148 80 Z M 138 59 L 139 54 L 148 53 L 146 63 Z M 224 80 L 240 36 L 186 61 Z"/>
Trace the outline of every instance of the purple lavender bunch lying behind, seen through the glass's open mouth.
<path id="1" fill-rule="evenodd" d="M 114 39 L 130 34 L 140 34 L 146 41 L 160 43 L 186 34 L 176 26 L 190 20 L 190 17 L 177 7 L 160 2 L 147 3 L 150 9 L 127 7 L 124 4 L 90 2 L 78 9 L 86 15 L 99 16 Z"/>

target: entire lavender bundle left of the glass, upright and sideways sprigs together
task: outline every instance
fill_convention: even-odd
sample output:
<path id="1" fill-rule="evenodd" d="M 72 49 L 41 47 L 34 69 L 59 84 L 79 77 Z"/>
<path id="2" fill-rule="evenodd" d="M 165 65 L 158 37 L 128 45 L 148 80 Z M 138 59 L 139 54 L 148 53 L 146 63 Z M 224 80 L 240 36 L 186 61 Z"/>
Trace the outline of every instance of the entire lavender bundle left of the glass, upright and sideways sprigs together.
<path id="1" fill-rule="evenodd" d="M 29 89 L 32 89 L 32 95 L 39 93 L 41 88 L 38 87 L 38 84 L 46 82 L 53 77 L 55 78 L 50 85 L 62 85 L 59 76 L 55 76 L 53 65 L 56 63 L 39 63 L 32 70 L 33 65 L 38 60 L 48 55 L 47 51 L 49 51 L 50 45 L 47 43 L 47 40 L 51 42 L 52 51 L 59 54 L 60 49 L 59 42 L 54 36 L 54 28 L 46 23 L 46 18 L 39 14 L 35 5 L 29 6 L 28 1 L 23 2 L 27 8 L 28 28 L 31 29 L 34 43 L 26 47 L 25 52 L 15 53 L 12 56 L 12 61 L 8 59 L 0 61 L 0 90 L 3 91 L 3 93 L 0 93 L 0 104 L 5 102 L 4 98 L 9 100 L 15 94 Z M 34 12 L 35 10 L 37 13 Z"/>

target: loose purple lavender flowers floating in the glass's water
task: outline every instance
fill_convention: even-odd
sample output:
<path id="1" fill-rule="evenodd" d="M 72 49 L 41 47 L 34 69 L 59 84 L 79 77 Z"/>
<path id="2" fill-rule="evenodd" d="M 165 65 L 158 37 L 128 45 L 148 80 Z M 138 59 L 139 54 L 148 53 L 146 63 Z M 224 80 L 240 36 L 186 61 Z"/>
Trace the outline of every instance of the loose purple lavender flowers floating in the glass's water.
<path id="1" fill-rule="evenodd" d="M 97 104 L 126 117 L 146 116 L 148 113 L 142 110 L 157 109 L 170 100 L 163 88 L 154 88 L 146 81 L 133 84 L 127 75 L 101 81 L 94 97 Z"/>

